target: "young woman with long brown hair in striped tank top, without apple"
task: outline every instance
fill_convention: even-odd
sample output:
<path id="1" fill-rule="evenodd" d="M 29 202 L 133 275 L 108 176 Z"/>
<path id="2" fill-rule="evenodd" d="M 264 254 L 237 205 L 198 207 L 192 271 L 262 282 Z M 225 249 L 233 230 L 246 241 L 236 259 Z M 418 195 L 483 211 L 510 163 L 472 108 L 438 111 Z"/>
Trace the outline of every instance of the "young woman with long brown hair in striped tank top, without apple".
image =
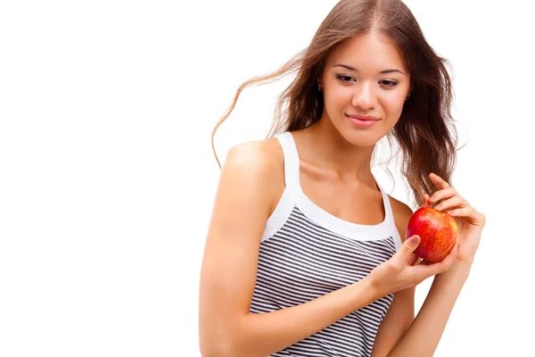
<path id="1" fill-rule="evenodd" d="M 305 51 L 239 88 L 235 101 L 297 71 L 276 135 L 235 145 L 221 171 L 202 262 L 203 356 L 432 356 L 485 224 L 448 183 L 457 137 L 445 63 L 399 0 L 342 0 Z M 374 179 L 383 137 L 399 145 L 417 205 L 457 220 L 441 262 L 417 258 L 419 237 L 405 239 L 413 211 Z M 415 286 L 432 276 L 415 317 Z"/>

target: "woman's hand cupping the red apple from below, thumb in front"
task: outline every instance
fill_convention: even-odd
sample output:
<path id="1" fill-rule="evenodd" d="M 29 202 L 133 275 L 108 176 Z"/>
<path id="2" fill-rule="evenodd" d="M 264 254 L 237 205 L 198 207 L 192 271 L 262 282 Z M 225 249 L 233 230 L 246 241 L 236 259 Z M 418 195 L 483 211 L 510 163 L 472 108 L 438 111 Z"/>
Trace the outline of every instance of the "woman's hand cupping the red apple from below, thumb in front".
<path id="1" fill-rule="evenodd" d="M 418 262 L 419 258 L 413 252 L 419 244 L 420 237 L 409 237 L 391 259 L 375 267 L 366 277 L 371 279 L 372 286 L 380 297 L 416 286 L 426 278 L 449 270 L 451 264 L 455 262 L 458 243 L 443 260 L 435 263 Z"/>

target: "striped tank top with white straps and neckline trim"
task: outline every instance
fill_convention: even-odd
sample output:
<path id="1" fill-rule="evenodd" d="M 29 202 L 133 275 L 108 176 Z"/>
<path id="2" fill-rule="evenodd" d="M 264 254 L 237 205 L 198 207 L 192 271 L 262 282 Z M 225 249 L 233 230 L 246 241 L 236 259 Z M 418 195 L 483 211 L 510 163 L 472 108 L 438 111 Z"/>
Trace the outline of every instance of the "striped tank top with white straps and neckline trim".
<path id="1" fill-rule="evenodd" d="M 290 132 L 275 136 L 284 152 L 284 193 L 269 217 L 259 247 L 251 313 L 307 303 L 366 277 L 401 245 L 388 195 L 377 225 L 341 220 L 321 209 L 300 187 L 300 160 Z M 370 356 L 393 294 L 351 312 L 327 328 L 272 356 Z"/>

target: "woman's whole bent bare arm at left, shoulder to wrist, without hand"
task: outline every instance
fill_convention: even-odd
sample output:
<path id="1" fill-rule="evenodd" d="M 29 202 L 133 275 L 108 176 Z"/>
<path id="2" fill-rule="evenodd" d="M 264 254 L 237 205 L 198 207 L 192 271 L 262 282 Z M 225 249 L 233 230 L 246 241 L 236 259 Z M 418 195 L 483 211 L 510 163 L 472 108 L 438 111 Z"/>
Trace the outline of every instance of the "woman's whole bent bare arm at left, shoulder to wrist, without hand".
<path id="1" fill-rule="evenodd" d="M 266 356 L 342 319 L 381 296 L 367 280 L 309 303 L 251 314 L 260 237 L 273 209 L 274 162 L 259 143 L 234 147 L 218 187 L 205 246 L 200 290 L 203 356 Z"/>

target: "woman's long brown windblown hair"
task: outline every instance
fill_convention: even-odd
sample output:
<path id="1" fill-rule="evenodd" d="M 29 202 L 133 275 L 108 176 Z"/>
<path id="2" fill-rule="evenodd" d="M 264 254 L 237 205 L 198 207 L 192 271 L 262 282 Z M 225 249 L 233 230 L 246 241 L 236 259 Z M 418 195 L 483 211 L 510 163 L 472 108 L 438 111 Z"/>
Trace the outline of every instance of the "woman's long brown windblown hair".
<path id="1" fill-rule="evenodd" d="M 411 76 L 410 96 L 397 124 L 386 136 L 391 148 L 392 140 L 398 144 L 398 150 L 388 162 L 394 156 L 400 156 L 401 172 L 418 205 L 423 203 L 424 193 L 432 195 L 437 190 L 429 179 L 430 172 L 451 184 L 457 163 L 457 129 L 450 109 L 453 91 L 447 68 L 449 61 L 429 46 L 413 13 L 400 0 L 340 1 L 321 23 L 307 48 L 294 55 L 278 71 L 245 81 L 236 91 L 234 102 L 213 129 L 212 149 L 216 160 L 216 130 L 234 110 L 245 87 L 271 83 L 297 72 L 290 86 L 278 98 L 275 120 L 267 138 L 276 133 L 306 128 L 320 119 L 324 109 L 317 78 L 324 70 L 327 56 L 335 46 L 372 30 L 385 35 L 398 46 Z"/>

